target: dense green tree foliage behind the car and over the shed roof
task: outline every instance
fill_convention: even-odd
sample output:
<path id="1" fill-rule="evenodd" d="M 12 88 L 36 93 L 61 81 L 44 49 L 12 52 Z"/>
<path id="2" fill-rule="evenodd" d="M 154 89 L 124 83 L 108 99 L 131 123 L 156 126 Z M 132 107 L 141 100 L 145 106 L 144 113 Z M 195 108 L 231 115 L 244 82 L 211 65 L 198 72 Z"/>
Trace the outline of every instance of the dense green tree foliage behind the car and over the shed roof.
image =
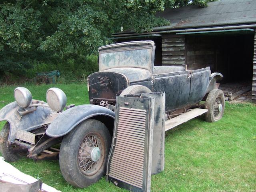
<path id="1" fill-rule="evenodd" d="M 148 32 L 169 24 L 155 17 L 156 12 L 188 4 L 204 6 L 208 1 L 212 0 L 3 0 L 0 78 L 5 72 L 32 77 L 35 70 L 88 75 L 96 62 L 89 66 L 87 55 L 96 57 L 98 47 L 110 44 L 111 34 L 121 26 Z"/>

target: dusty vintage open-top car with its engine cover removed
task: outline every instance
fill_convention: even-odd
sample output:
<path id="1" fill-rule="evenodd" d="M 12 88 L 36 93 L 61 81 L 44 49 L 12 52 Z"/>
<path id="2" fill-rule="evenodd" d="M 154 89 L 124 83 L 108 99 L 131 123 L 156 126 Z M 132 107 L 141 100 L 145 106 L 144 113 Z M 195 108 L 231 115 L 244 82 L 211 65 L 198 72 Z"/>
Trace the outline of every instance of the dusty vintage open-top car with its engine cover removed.
<path id="1" fill-rule="evenodd" d="M 0 133 L 2 156 L 10 162 L 21 156 L 59 159 L 66 181 L 83 188 L 105 173 L 116 96 L 165 92 L 166 120 L 193 108 L 205 108 L 208 122 L 222 118 L 224 94 L 216 88 L 220 73 L 211 73 L 210 67 L 154 66 L 154 55 L 153 41 L 100 47 L 99 72 L 88 76 L 90 104 L 66 106 L 66 95 L 58 88 L 47 91 L 47 103 L 16 88 L 16 101 L 0 110 L 0 121 L 7 121 Z M 202 100 L 204 106 L 198 104 Z"/>

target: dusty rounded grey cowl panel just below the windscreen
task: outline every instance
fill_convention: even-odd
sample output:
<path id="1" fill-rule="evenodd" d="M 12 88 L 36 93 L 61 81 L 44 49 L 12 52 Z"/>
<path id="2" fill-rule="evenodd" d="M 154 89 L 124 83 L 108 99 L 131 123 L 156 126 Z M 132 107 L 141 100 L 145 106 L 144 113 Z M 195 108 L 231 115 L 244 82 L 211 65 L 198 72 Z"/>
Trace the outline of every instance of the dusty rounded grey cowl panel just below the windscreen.
<path id="1" fill-rule="evenodd" d="M 112 68 L 104 71 L 121 73 L 128 78 L 130 83 L 147 81 L 147 80 L 150 80 L 150 76 L 151 76 L 148 70 L 142 69 L 142 68 L 133 68 L 133 67 Z"/>

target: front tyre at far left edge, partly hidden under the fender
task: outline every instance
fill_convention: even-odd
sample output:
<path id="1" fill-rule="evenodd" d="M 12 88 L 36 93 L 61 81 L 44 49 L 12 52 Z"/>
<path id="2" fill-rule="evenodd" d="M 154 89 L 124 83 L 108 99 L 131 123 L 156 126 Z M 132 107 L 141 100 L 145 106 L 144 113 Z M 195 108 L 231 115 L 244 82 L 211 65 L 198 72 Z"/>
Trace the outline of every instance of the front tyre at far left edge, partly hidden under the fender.
<path id="1" fill-rule="evenodd" d="M 10 124 L 7 122 L 0 132 L 0 152 L 4 159 L 8 162 L 18 161 L 22 156 L 26 156 L 26 152 L 15 144 L 7 146 L 8 136 L 10 132 Z M 14 150 L 14 148 L 17 148 Z"/>

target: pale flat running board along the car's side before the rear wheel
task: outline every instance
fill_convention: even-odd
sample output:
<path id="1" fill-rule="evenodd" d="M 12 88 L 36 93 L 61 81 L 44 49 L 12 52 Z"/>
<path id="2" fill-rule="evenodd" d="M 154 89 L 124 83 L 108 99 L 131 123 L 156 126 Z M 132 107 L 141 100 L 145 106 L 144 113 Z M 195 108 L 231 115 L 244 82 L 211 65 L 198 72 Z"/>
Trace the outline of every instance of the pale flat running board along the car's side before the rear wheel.
<path id="1" fill-rule="evenodd" d="M 208 111 L 207 109 L 196 108 L 196 109 L 192 109 L 189 112 L 186 112 L 184 114 L 176 116 L 170 120 L 167 120 L 165 122 L 165 131 L 168 131 L 184 122 L 187 122 L 190 119 L 200 116 L 200 115 L 206 113 L 207 111 Z"/>

